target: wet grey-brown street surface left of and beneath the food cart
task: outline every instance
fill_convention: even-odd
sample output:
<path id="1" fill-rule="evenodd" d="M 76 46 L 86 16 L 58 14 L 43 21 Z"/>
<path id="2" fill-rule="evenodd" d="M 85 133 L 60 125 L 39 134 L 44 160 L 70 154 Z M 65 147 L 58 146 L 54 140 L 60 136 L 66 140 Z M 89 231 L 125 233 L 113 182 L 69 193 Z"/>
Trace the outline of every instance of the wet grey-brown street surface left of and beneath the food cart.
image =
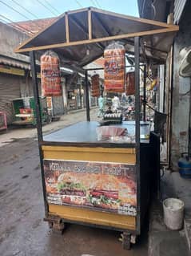
<path id="1" fill-rule="evenodd" d="M 92 114 L 96 116 L 96 110 Z M 44 128 L 48 132 L 85 119 L 86 114 L 78 112 L 63 116 L 60 122 Z M 0 148 L 0 255 L 147 255 L 146 232 L 131 251 L 121 249 L 120 234 L 114 231 L 69 225 L 63 235 L 52 233 L 43 221 L 42 182 L 35 136 L 34 128 L 0 135 L 1 142 L 9 142 L 2 143 Z"/>

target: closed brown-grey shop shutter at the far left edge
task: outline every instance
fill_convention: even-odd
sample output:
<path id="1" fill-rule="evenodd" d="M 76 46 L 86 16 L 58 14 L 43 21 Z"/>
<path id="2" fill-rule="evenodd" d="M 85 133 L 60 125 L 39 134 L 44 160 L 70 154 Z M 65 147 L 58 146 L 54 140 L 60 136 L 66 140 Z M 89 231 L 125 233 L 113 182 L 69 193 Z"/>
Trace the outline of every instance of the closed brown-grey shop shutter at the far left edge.
<path id="1" fill-rule="evenodd" d="M 0 74 L 0 111 L 6 112 L 7 124 L 14 120 L 12 100 L 20 97 L 20 77 Z"/>

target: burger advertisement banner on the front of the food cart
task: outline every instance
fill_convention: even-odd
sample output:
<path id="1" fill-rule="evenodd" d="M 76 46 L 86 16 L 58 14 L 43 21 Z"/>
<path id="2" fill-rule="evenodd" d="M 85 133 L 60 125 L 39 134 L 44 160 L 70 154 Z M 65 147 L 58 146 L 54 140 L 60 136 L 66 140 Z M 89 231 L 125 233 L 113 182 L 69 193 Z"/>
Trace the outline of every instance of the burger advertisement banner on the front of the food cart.
<path id="1" fill-rule="evenodd" d="M 136 216 L 135 165 L 44 160 L 49 204 Z"/>

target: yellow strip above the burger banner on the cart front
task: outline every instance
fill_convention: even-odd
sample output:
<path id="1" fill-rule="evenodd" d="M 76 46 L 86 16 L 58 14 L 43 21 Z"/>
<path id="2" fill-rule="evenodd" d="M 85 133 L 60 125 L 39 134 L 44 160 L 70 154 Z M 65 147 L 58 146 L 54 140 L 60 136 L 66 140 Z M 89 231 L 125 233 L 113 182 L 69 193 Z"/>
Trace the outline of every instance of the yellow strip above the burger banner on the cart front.
<path id="1" fill-rule="evenodd" d="M 74 160 L 74 161 L 102 161 L 135 164 L 136 155 L 133 148 L 80 148 L 42 146 L 45 159 Z"/>

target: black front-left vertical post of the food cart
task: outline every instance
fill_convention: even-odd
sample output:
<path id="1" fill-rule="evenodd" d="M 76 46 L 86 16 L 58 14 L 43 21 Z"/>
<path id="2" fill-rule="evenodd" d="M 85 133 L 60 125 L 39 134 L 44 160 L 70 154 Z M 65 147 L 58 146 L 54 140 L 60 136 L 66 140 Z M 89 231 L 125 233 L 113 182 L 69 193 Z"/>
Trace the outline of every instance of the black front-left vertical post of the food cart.
<path id="1" fill-rule="evenodd" d="M 42 154 L 42 147 L 41 147 L 42 117 L 41 117 L 41 111 L 40 111 L 40 100 L 39 100 L 39 94 L 38 94 L 38 79 L 37 79 L 37 70 L 36 70 L 34 51 L 30 51 L 30 66 L 31 66 L 32 81 L 33 81 L 33 87 L 34 87 L 34 102 L 35 102 L 35 111 L 36 111 L 36 118 L 37 118 L 38 149 L 39 149 L 40 164 L 41 164 L 42 189 L 43 189 L 43 197 L 44 197 L 44 202 L 45 202 L 45 213 L 46 213 L 46 217 L 47 217 L 48 204 L 46 201 L 46 184 L 45 184 L 45 176 L 44 176 L 43 154 Z"/>

